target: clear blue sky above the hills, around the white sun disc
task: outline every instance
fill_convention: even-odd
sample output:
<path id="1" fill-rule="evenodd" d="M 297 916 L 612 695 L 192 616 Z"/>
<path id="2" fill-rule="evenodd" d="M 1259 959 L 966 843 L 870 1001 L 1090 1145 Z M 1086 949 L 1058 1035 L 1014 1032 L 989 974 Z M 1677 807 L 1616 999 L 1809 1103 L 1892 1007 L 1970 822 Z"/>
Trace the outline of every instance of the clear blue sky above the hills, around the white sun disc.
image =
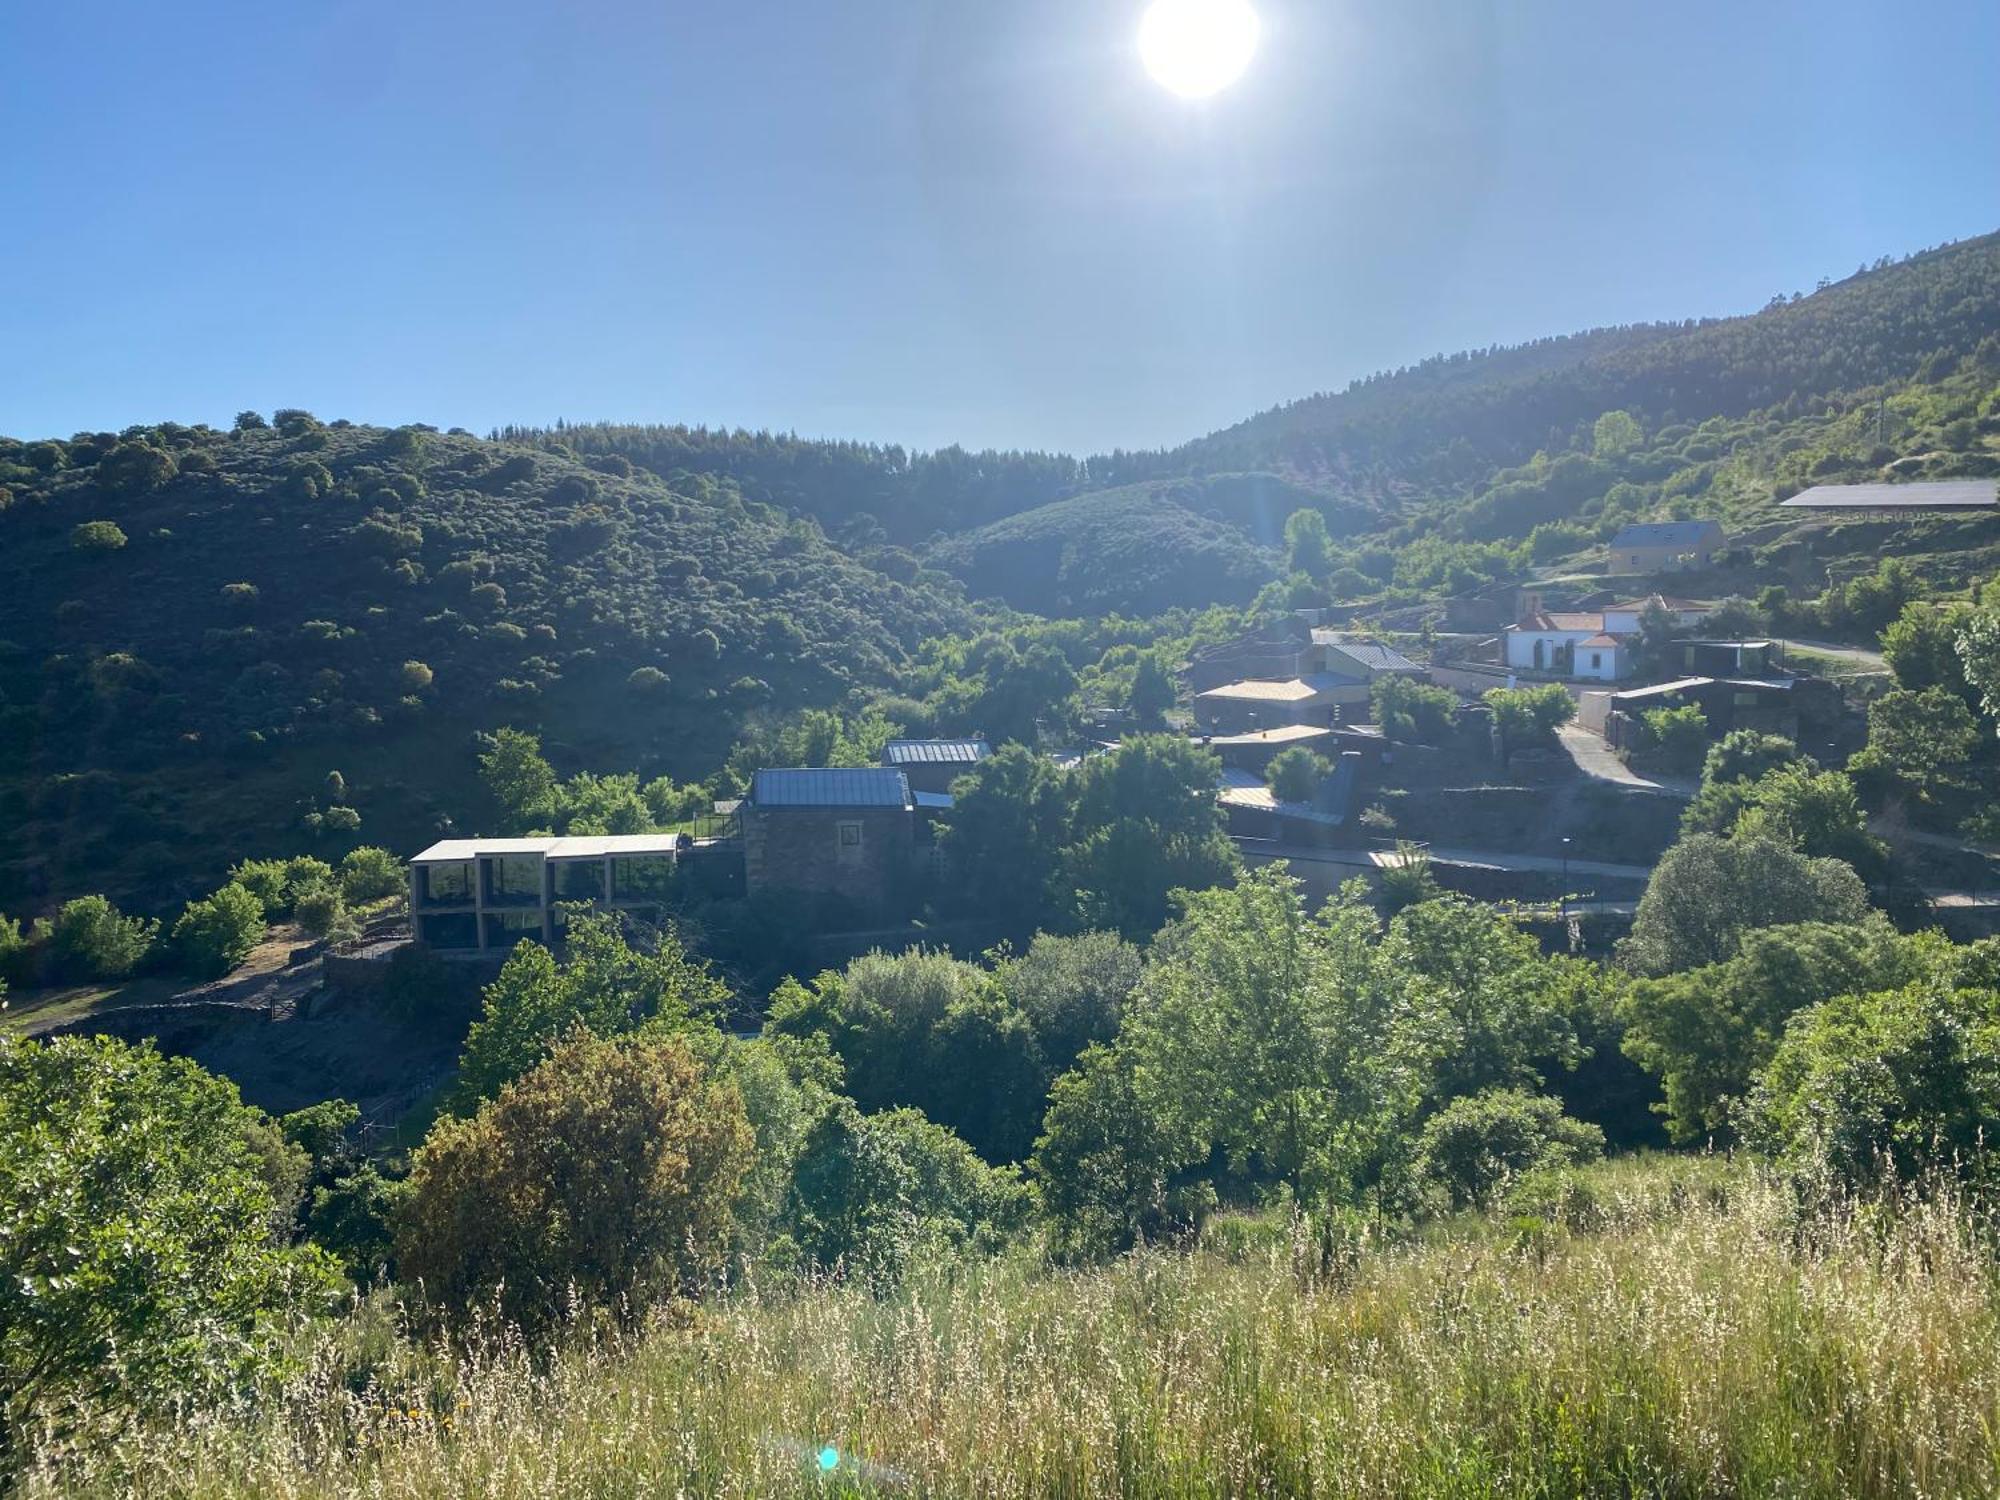
<path id="1" fill-rule="evenodd" d="M 1992 0 L 0 8 L 0 432 L 1174 444 L 2000 228 Z"/>

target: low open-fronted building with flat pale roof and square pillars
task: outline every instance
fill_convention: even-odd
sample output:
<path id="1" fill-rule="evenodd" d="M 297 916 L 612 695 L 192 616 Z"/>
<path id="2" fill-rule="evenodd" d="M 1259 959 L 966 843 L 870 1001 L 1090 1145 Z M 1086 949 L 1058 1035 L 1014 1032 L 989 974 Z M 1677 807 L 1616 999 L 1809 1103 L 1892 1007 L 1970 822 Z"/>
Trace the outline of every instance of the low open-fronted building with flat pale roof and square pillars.
<path id="1" fill-rule="evenodd" d="M 556 942 L 566 902 L 658 922 L 680 854 L 680 834 L 446 838 L 410 860 L 410 930 L 440 952 L 506 952 Z"/>

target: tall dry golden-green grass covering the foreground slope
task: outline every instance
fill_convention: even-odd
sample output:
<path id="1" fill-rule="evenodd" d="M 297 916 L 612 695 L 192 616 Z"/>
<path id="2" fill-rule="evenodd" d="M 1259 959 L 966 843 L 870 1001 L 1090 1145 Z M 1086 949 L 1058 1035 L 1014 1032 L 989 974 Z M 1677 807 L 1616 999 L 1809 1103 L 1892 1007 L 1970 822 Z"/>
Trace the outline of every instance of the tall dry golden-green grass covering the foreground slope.
<path id="1" fill-rule="evenodd" d="M 2000 1300 L 1956 1204 L 1802 1226 L 1776 1184 L 1654 1164 L 1548 1212 L 1346 1256 L 1250 1232 L 1098 1272 L 990 1262 L 890 1300 L 744 1288 L 554 1360 L 382 1346 L 352 1390 L 362 1320 L 262 1414 L 52 1456 L 22 1490 L 2000 1492 Z"/>

